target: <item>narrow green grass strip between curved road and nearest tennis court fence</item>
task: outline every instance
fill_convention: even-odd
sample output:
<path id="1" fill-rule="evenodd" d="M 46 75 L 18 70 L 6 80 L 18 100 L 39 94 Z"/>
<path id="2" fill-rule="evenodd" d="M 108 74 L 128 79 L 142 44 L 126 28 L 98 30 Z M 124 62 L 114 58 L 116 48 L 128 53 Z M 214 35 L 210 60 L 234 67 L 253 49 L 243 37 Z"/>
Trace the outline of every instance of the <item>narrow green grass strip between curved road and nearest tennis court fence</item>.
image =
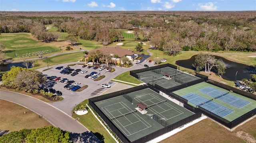
<path id="1" fill-rule="evenodd" d="M 88 99 L 84 100 L 80 104 L 76 105 L 78 108 L 81 105 L 88 104 Z M 74 112 L 75 108 L 72 112 Z M 72 114 L 74 119 L 79 118 L 79 122 L 82 123 L 89 131 L 92 131 L 102 143 L 115 143 L 115 140 L 109 135 L 106 129 L 100 124 L 100 122 L 93 116 L 92 112 L 88 109 L 88 113 L 85 115 Z"/>

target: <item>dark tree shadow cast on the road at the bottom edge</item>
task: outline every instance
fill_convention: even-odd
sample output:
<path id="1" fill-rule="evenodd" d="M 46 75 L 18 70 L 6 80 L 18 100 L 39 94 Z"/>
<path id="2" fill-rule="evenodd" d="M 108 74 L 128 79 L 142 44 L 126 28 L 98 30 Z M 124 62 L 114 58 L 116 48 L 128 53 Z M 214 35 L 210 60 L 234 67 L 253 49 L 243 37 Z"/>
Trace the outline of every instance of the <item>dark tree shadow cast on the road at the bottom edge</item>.
<path id="1" fill-rule="evenodd" d="M 101 135 L 102 136 L 102 135 Z M 101 142 L 92 132 L 70 133 L 72 143 L 104 143 Z M 104 137 L 102 136 L 104 139 Z"/>

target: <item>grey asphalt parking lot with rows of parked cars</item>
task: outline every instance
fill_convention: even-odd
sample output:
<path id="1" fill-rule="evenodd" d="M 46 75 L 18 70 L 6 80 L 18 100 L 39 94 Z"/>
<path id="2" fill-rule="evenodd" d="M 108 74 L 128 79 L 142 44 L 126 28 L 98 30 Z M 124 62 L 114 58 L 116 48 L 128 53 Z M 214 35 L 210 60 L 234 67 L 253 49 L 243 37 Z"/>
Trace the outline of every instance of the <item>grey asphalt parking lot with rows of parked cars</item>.
<path id="1" fill-rule="evenodd" d="M 74 63 L 84 63 L 84 62 L 74 62 Z M 62 92 L 62 97 L 64 98 L 62 101 L 60 102 L 50 102 L 49 104 L 51 104 L 52 106 L 55 106 L 56 108 L 62 110 L 63 112 L 65 112 L 68 115 L 72 114 L 72 109 L 75 107 L 75 105 L 79 104 L 80 102 L 82 102 L 85 99 L 89 99 L 95 96 L 99 96 L 100 94 L 104 93 L 109 93 L 109 90 L 112 90 L 112 88 L 118 88 L 118 86 L 115 87 L 115 83 L 110 84 L 110 88 L 103 88 L 102 89 L 102 84 L 108 84 L 109 81 L 111 81 L 113 78 L 115 78 L 116 76 L 118 76 L 119 74 L 126 72 L 126 71 L 131 71 L 131 70 L 135 70 L 135 69 L 142 69 L 145 68 L 144 67 L 144 63 L 140 63 L 140 64 L 135 64 L 134 66 L 130 67 L 130 68 L 124 68 L 124 67 L 119 67 L 119 66 L 114 66 L 113 68 L 115 69 L 114 72 L 106 72 L 106 69 L 100 71 L 100 75 L 105 75 L 106 77 L 103 78 L 102 80 L 99 81 L 94 81 L 92 79 L 88 79 L 88 78 L 84 78 L 84 76 L 86 76 L 87 74 L 90 74 L 91 72 L 95 71 L 95 72 L 99 72 L 99 69 L 88 69 L 87 67 L 82 67 L 82 65 L 74 65 L 74 66 L 70 66 L 70 68 L 76 70 L 76 69 L 81 69 L 83 70 L 87 70 L 88 72 L 81 74 L 81 71 L 79 72 L 79 74 L 75 75 L 75 76 L 71 76 L 71 74 L 61 74 L 60 70 L 55 69 L 56 67 L 67 67 L 70 64 L 74 64 L 74 63 L 66 63 L 66 64 L 59 64 L 59 65 L 53 65 L 50 66 L 48 70 L 47 67 L 38 69 L 38 71 L 41 71 L 43 74 L 47 74 L 48 76 L 57 76 L 57 77 L 65 77 L 68 78 L 68 80 L 74 80 L 75 82 L 80 82 L 81 84 L 79 86 L 84 86 L 84 85 L 88 85 L 88 87 L 81 91 L 81 92 L 73 92 L 71 90 L 66 90 L 64 88 L 64 86 L 66 84 L 61 83 L 61 82 L 55 82 L 52 81 L 53 84 L 53 88 L 56 91 L 61 91 Z M 92 63 L 89 63 L 92 64 Z M 149 64 L 147 62 L 147 64 Z M 151 63 L 150 63 L 151 64 Z M 152 65 L 149 66 L 154 66 L 153 63 Z M 102 66 L 102 65 L 101 65 Z M 45 70 L 45 71 L 44 71 Z M 73 71 L 74 72 L 74 71 Z M 99 75 L 98 75 L 99 76 Z M 74 84 L 74 83 L 73 83 Z M 127 87 L 127 88 L 130 88 Z M 122 87 L 123 89 L 123 87 Z M 122 89 L 115 89 L 115 91 L 118 90 L 122 90 Z"/>

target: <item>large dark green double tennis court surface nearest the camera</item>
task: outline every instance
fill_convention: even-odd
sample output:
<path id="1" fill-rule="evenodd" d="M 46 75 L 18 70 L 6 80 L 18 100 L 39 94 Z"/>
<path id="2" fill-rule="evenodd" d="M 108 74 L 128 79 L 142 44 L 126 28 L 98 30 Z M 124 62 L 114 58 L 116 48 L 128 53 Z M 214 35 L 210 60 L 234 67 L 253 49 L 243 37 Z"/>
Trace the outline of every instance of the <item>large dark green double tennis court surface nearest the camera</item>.
<path id="1" fill-rule="evenodd" d="M 138 108 L 138 103 L 146 107 L 145 111 L 138 110 L 141 109 Z M 164 125 L 154 120 L 154 114 L 166 121 L 166 124 L 176 123 L 194 114 L 150 88 L 95 104 L 130 141 L 164 128 Z"/>

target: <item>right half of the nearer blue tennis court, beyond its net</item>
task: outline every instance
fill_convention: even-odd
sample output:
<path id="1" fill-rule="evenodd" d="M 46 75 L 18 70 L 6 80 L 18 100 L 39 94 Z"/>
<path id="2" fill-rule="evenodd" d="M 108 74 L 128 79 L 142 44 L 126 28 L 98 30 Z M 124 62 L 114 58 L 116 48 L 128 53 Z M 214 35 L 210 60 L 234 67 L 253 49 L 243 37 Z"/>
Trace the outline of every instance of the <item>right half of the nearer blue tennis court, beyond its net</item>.
<path id="1" fill-rule="evenodd" d="M 228 114 L 234 112 L 234 110 L 226 108 L 225 106 L 222 106 L 216 102 L 208 102 L 206 104 L 200 105 L 200 107 L 202 107 L 202 108 L 204 108 L 222 118 L 224 116 L 227 116 Z"/>

